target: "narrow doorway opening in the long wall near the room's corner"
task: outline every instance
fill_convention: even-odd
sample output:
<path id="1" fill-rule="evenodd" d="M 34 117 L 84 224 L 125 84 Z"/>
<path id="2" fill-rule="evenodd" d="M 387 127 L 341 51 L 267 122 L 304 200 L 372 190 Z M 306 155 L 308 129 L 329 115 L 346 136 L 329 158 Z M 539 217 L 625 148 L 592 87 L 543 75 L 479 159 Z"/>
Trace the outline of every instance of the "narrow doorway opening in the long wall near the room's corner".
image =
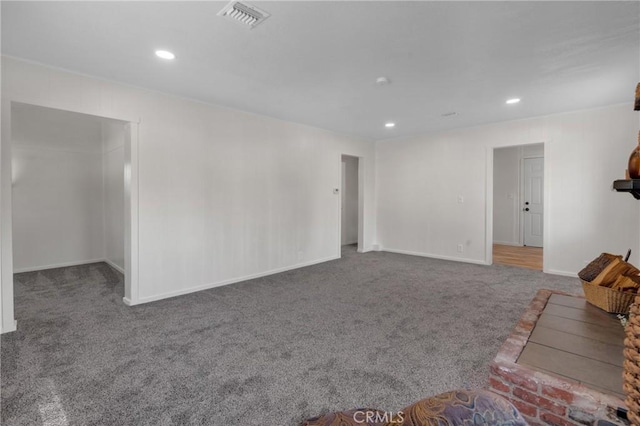
<path id="1" fill-rule="evenodd" d="M 340 198 L 340 246 L 341 253 L 357 251 L 360 234 L 360 159 L 342 156 L 342 190 Z"/>

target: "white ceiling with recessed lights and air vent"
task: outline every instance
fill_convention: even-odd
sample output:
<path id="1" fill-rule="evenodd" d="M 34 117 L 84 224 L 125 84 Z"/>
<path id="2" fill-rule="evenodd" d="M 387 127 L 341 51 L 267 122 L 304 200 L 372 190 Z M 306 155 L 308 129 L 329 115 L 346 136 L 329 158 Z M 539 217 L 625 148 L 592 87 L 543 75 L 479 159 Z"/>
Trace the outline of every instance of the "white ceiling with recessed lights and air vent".
<path id="1" fill-rule="evenodd" d="M 225 4 L 2 1 L 2 53 L 371 139 L 631 103 L 640 80 L 635 1 L 254 1 L 253 30 Z"/>

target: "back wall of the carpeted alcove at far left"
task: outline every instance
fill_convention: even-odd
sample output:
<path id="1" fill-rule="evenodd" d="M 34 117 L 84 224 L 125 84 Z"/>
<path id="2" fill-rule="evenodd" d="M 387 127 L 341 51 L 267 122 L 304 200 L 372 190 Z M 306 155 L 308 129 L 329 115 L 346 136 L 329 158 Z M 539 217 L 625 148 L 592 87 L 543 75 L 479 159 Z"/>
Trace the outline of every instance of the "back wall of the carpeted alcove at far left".
<path id="1" fill-rule="evenodd" d="M 14 105 L 14 272 L 104 258 L 101 139 L 98 120 Z"/>

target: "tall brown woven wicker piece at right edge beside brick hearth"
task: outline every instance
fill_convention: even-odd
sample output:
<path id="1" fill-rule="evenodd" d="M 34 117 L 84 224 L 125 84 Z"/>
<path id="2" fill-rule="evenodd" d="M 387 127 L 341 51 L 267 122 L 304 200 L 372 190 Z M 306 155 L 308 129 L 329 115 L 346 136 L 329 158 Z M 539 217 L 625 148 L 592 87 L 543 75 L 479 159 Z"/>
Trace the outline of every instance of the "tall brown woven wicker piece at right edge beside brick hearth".
<path id="1" fill-rule="evenodd" d="M 623 389 L 626 395 L 627 417 L 640 425 L 640 297 L 631 305 L 624 339 Z"/>

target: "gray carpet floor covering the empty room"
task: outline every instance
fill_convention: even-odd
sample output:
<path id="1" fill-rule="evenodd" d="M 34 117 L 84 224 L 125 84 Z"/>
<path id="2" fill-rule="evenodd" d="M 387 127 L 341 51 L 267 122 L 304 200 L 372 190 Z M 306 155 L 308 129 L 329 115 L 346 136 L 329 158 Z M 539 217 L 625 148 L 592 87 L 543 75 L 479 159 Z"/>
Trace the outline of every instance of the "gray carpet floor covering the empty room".
<path id="1" fill-rule="evenodd" d="M 297 425 L 399 410 L 488 366 L 540 288 L 577 279 L 359 254 L 146 305 L 102 263 L 18 274 L 2 424 Z"/>

